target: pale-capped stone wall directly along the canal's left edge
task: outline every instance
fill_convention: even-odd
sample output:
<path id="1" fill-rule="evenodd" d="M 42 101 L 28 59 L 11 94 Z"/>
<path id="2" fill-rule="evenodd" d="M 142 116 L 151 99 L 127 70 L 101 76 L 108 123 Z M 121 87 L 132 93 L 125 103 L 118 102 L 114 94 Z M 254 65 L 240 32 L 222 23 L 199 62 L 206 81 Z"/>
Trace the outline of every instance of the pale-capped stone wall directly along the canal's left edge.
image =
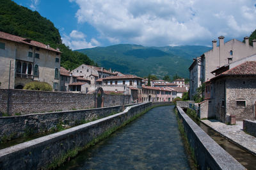
<path id="1" fill-rule="evenodd" d="M 45 169 L 54 160 L 81 150 L 93 139 L 111 128 L 120 127 L 151 105 L 151 102 L 134 105 L 107 118 L 0 150 L 0 169 Z"/>

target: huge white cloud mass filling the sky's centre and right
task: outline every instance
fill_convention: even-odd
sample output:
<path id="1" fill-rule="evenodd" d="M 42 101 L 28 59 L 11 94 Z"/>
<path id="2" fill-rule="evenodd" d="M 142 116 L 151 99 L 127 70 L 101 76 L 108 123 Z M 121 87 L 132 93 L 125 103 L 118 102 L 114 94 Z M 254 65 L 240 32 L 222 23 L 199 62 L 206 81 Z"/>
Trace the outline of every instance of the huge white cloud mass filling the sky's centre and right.
<path id="1" fill-rule="evenodd" d="M 249 36 L 256 29 L 255 0 L 69 0 L 111 43 L 204 44 L 220 36 Z"/>

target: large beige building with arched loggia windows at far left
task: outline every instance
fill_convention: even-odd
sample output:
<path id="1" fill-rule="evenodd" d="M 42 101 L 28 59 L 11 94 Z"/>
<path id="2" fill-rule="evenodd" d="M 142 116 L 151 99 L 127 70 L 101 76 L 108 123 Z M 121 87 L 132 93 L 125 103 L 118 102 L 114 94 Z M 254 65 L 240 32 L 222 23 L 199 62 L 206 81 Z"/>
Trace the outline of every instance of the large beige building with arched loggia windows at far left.
<path id="1" fill-rule="evenodd" d="M 59 90 L 60 50 L 0 31 L 1 88 L 22 89 L 31 81 L 48 82 Z"/>

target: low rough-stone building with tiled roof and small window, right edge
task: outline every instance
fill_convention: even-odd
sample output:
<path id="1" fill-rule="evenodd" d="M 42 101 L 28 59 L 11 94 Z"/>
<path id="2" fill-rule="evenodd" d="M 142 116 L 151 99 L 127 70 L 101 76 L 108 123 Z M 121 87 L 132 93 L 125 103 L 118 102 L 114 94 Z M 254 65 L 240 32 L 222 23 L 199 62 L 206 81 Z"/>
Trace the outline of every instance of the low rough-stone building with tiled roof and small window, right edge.
<path id="1" fill-rule="evenodd" d="M 208 83 L 209 84 L 209 83 Z M 225 122 L 227 116 L 236 120 L 256 118 L 256 61 L 246 61 L 211 79 L 208 114 Z"/>

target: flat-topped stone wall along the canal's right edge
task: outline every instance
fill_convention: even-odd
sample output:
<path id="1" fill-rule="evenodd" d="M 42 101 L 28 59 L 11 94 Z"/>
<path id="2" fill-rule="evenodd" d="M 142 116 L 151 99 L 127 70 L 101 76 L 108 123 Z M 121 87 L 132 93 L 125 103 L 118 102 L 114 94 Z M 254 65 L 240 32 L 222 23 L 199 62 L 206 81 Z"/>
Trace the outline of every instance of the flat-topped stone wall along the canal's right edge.
<path id="1" fill-rule="evenodd" d="M 227 151 L 223 150 L 202 128 L 177 107 L 179 118 L 184 125 L 189 146 L 193 148 L 199 169 L 245 169 Z"/>

